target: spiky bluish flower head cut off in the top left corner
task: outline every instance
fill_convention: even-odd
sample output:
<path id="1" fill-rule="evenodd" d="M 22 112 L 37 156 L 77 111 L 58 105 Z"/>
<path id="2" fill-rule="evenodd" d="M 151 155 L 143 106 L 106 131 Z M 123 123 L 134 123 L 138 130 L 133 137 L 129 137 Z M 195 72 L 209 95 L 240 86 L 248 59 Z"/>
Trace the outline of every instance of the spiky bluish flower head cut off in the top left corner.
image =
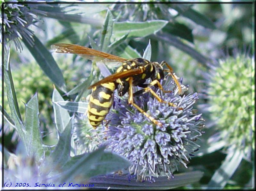
<path id="1" fill-rule="evenodd" d="M 38 15 L 47 16 L 50 12 L 65 14 L 65 8 L 70 6 L 60 7 L 58 4 L 26 4 L 30 0 L 12 0 L 4 3 L 3 15 L 0 14 L 0 23 L 2 25 L 2 17 L 4 21 L 4 40 L 2 35 L 0 36 L 0 42 L 4 43 L 4 48 L 7 49 L 7 43 L 12 41 L 16 47 L 16 50 L 22 50 L 20 40 L 25 39 L 31 46 L 34 44 L 34 31 L 29 29 L 30 26 L 36 26 L 36 23 L 40 21 Z M 37 0 L 40 1 L 40 0 Z M 20 4 L 23 2 L 23 4 Z M 47 2 L 40 1 L 40 2 Z M 71 5 L 72 6 L 72 5 Z M 55 8 L 56 7 L 56 8 Z M 2 11 L 2 9 L 1 9 Z M 0 28 L 2 33 L 2 27 Z"/>

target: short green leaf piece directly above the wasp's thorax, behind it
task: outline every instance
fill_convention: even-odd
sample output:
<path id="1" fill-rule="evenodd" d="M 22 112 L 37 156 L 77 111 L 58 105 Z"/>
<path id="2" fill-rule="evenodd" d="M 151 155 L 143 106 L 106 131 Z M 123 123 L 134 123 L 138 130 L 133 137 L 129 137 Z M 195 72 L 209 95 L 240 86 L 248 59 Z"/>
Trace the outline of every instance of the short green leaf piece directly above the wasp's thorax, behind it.
<path id="1" fill-rule="evenodd" d="M 116 49 L 113 51 L 113 54 L 127 59 L 141 58 L 140 53 L 125 43 L 116 47 Z"/>

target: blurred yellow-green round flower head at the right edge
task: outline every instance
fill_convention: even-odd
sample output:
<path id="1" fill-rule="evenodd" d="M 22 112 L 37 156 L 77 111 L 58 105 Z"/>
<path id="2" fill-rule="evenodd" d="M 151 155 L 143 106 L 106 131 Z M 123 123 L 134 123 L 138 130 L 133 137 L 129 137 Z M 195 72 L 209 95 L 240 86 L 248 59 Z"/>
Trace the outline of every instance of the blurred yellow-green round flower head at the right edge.
<path id="1" fill-rule="evenodd" d="M 250 155 L 254 145 L 253 59 L 238 54 L 219 62 L 209 77 L 209 111 L 219 129 L 219 141 L 225 149 L 239 148 Z M 216 139 L 215 139 L 216 140 Z"/>

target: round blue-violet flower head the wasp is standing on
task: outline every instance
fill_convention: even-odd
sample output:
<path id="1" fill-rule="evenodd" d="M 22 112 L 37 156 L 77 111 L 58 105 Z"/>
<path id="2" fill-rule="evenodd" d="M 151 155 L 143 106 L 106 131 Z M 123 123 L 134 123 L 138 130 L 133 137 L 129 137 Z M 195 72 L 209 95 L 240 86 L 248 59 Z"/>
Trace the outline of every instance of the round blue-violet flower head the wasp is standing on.
<path id="1" fill-rule="evenodd" d="M 180 80 L 181 83 L 181 80 Z M 202 135 L 204 126 L 202 114 L 193 109 L 198 99 L 197 93 L 178 95 L 178 88 L 171 77 L 164 82 L 164 90 L 171 93 L 156 93 L 167 103 L 160 103 L 150 93 L 134 97 L 134 102 L 147 114 L 160 121 L 157 126 L 135 107 L 129 106 L 127 99 L 115 97 L 115 107 L 107 115 L 107 130 L 102 134 L 112 150 L 132 162 L 131 174 L 137 179 L 146 180 L 147 176 L 173 176 L 181 163 L 187 167 L 190 155 L 199 147 L 196 138 Z M 182 85 L 182 91 L 187 87 Z"/>

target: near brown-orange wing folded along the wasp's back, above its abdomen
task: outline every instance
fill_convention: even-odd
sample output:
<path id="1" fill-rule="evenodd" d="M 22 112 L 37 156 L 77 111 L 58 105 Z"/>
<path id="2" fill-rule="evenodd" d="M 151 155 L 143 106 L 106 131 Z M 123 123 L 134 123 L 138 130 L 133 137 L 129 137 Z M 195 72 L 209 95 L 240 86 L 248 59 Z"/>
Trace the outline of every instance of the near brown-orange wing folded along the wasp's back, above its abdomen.
<path id="1" fill-rule="evenodd" d="M 115 80 L 119 79 L 119 78 L 125 78 L 125 77 L 131 77 L 133 75 L 138 75 L 143 73 L 144 70 L 142 69 L 132 69 L 132 70 L 127 70 L 127 71 L 123 71 L 123 72 L 118 72 L 115 74 L 112 74 L 108 77 L 103 78 L 102 80 L 96 82 L 95 84 L 92 84 L 88 89 L 92 89 L 93 87 L 100 85 L 100 84 L 104 84 L 104 83 L 108 83 L 108 82 L 114 82 Z"/>

